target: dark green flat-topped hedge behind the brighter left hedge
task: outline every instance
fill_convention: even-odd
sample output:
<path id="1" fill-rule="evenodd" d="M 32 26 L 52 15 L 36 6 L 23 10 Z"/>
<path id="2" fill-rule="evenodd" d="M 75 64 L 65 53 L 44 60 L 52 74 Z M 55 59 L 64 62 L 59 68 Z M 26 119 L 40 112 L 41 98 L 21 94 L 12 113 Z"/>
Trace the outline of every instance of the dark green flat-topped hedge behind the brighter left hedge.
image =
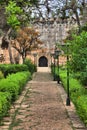
<path id="1" fill-rule="evenodd" d="M 1 64 L 0 70 L 6 77 L 8 74 L 17 73 L 21 71 L 28 71 L 28 67 L 25 64 Z"/>

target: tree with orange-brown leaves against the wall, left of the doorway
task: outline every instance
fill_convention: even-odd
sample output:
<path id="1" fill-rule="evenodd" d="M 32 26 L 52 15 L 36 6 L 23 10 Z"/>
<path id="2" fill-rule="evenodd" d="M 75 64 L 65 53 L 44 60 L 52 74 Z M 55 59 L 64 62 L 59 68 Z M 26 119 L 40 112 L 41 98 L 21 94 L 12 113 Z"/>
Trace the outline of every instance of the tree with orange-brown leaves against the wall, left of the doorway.
<path id="1" fill-rule="evenodd" d="M 11 45 L 22 56 L 23 62 L 28 51 L 32 48 L 38 48 L 42 42 L 39 39 L 39 32 L 33 27 L 24 27 L 18 29 L 17 37 L 11 41 Z"/>

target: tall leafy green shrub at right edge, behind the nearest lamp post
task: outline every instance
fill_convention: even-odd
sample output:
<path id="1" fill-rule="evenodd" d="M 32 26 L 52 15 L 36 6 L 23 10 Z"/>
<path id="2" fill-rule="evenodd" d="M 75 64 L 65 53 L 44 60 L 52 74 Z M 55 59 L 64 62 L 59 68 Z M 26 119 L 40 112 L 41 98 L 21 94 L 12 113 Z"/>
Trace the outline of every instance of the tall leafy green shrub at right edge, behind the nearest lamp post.
<path id="1" fill-rule="evenodd" d="M 71 52 L 71 70 L 79 72 L 80 80 L 87 85 L 87 32 L 82 32 L 79 36 L 74 35 Z"/>

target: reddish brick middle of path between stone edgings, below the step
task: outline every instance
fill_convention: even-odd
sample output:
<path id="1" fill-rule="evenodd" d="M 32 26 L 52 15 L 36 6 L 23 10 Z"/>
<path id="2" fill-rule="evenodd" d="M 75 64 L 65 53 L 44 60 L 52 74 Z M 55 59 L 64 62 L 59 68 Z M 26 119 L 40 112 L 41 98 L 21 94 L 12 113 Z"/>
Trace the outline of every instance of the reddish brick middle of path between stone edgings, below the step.
<path id="1" fill-rule="evenodd" d="M 73 130 L 57 84 L 37 82 L 30 86 L 14 120 L 18 126 L 12 130 Z"/>

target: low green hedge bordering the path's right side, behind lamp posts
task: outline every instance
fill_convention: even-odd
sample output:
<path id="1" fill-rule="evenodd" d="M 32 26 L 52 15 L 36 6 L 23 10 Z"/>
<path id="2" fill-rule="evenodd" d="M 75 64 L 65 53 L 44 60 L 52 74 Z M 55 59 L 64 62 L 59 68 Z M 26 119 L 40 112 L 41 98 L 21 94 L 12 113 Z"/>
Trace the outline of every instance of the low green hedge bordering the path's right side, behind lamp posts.
<path id="1" fill-rule="evenodd" d="M 57 72 L 56 72 L 57 73 Z M 60 70 L 61 82 L 67 91 L 66 70 Z M 70 98 L 84 124 L 87 126 L 87 90 L 70 74 Z"/>

